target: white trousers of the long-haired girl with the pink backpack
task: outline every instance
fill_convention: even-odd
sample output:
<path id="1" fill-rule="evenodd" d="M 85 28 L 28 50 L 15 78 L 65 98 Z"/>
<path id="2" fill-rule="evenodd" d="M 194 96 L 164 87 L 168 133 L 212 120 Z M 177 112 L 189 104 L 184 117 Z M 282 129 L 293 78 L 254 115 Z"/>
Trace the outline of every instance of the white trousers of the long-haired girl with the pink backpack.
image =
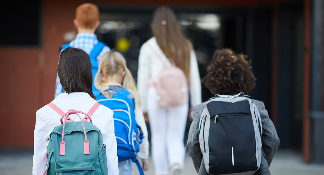
<path id="1" fill-rule="evenodd" d="M 161 108 L 156 100 L 156 88 L 147 92 L 147 114 L 151 128 L 152 159 L 156 175 L 168 175 L 169 167 L 184 167 L 184 132 L 189 104 Z"/>

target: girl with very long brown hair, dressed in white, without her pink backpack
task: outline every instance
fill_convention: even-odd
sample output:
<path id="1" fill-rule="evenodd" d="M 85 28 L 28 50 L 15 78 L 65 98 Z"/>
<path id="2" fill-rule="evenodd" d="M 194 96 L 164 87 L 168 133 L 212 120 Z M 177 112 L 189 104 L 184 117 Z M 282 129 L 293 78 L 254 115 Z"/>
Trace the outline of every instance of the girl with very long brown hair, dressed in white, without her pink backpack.
<path id="1" fill-rule="evenodd" d="M 153 37 L 140 50 L 137 87 L 142 110 L 150 122 L 155 174 L 175 175 L 180 174 L 184 166 L 183 138 L 189 101 L 167 107 L 160 105 L 163 98 L 159 93 L 161 72 L 171 65 L 181 69 L 189 85 L 191 106 L 201 103 L 201 81 L 191 42 L 182 34 L 171 8 L 160 6 L 156 9 L 151 30 Z M 172 84 L 167 85 L 172 89 Z M 186 89 L 181 89 L 181 92 L 188 93 Z"/>

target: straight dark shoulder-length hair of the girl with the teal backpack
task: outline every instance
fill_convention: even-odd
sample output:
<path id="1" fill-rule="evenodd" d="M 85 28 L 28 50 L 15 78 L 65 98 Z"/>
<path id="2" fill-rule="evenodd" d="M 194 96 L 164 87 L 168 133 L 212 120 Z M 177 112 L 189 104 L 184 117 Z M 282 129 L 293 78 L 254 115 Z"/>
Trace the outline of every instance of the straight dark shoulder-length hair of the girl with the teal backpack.
<path id="1" fill-rule="evenodd" d="M 67 93 L 92 93 L 92 65 L 89 55 L 82 49 L 68 47 L 60 55 L 57 74 Z"/>

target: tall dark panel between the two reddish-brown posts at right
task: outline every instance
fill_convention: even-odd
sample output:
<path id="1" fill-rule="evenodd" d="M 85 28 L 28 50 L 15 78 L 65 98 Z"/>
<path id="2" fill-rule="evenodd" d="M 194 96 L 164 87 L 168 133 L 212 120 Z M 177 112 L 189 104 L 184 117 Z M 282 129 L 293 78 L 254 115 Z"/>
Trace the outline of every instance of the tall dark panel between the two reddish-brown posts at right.
<path id="1" fill-rule="evenodd" d="M 303 2 L 279 6 L 278 136 L 280 148 L 301 149 L 303 117 Z"/>

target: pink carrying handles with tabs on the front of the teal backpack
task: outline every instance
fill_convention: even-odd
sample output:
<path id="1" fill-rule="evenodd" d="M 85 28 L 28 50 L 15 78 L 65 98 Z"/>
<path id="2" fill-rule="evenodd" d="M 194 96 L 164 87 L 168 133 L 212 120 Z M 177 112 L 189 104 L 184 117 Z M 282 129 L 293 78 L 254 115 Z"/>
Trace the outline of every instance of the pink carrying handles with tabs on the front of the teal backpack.
<path id="1" fill-rule="evenodd" d="M 90 147 L 89 147 L 89 141 L 87 140 L 86 128 L 83 125 L 83 121 L 82 121 L 80 115 L 78 115 L 77 113 L 84 114 L 83 112 L 75 111 L 73 109 L 70 109 L 67 113 L 65 113 L 66 115 L 63 116 L 63 117 L 65 117 L 65 116 L 66 117 L 65 117 L 65 120 L 64 120 L 64 125 L 63 125 L 63 130 L 62 130 L 62 141 L 60 143 L 60 156 L 65 155 L 64 127 L 65 127 L 66 120 L 67 120 L 68 116 L 71 115 L 71 114 L 76 114 L 77 116 L 79 116 L 79 118 L 81 120 L 83 131 L 84 131 L 84 137 L 86 138 L 86 141 L 84 141 L 84 154 L 90 154 Z M 61 121 L 62 121 L 63 117 L 61 118 Z M 91 119 L 90 119 L 90 121 L 91 121 Z"/>

